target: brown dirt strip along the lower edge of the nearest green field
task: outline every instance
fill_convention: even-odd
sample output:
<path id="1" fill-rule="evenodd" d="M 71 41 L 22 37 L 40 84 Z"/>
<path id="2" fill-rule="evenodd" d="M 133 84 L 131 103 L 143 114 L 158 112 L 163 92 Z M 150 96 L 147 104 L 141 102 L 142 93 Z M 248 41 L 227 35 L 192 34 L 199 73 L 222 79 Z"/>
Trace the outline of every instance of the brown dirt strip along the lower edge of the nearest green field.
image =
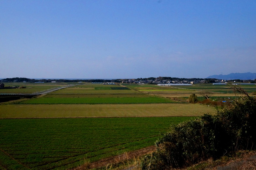
<path id="1" fill-rule="evenodd" d="M 107 166 L 108 164 L 116 164 L 116 163 L 125 161 L 127 159 L 132 159 L 134 157 L 145 155 L 145 154 L 147 154 L 149 152 L 152 152 L 154 150 L 155 150 L 155 146 L 150 146 L 150 147 L 143 148 L 143 149 L 140 149 L 140 150 L 136 150 L 136 151 L 133 151 L 133 152 L 127 152 L 127 153 L 124 153 L 122 155 L 102 159 L 100 161 L 93 162 L 93 163 L 90 163 L 90 164 L 84 164 L 82 166 L 73 168 L 71 170 L 93 169 L 93 168 L 99 168 L 99 167 L 102 167 L 102 166 Z"/>

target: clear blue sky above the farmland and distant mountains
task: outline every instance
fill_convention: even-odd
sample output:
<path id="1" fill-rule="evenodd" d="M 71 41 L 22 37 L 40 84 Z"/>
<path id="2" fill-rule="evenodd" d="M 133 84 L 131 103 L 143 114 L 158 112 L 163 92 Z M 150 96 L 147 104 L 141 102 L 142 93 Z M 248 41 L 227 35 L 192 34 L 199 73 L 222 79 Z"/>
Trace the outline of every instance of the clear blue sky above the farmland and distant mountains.
<path id="1" fill-rule="evenodd" d="M 256 0 L 0 0 L 0 77 L 256 72 Z"/>

